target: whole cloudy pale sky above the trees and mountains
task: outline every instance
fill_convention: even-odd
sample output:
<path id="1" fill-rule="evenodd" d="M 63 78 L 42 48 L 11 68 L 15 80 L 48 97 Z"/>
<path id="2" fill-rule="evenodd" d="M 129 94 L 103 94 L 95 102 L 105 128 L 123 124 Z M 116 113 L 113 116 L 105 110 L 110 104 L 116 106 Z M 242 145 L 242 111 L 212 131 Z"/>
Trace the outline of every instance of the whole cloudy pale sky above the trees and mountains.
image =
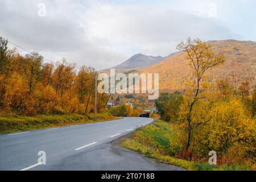
<path id="1" fill-rule="evenodd" d="M 255 7 L 254 0 L 0 0 L 0 36 L 48 60 L 103 69 L 136 53 L 167 56 L 189 36 L 256 41 Z"/>

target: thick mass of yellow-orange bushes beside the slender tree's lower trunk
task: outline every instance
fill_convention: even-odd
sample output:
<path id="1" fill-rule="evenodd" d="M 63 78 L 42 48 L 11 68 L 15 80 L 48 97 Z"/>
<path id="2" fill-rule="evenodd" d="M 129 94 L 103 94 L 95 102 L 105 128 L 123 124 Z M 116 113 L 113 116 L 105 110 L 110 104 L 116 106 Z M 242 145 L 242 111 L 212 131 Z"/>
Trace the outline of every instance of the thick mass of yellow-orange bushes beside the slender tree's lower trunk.
<path id="1" fill-rule="evenodd" d="M 201 104 L 200 102 L 200 105 Z M 196 109 L 199 109 L 196 107 Z M 210 121 L 193 129 L 189 155 L 193 160 L 207 162 L 209 151 L 216 151 L 218 164 L 252 166 L 255 157 L 255 119 L 246 115 L 246 107 L 236 97 L 214 102 L 208 114 Z M 198 119 L 199 117 L 195 115 Z M 183 125 L 180 125 L 183 128 Z M 184 136 L 186 135 L 184 131 Z"/>

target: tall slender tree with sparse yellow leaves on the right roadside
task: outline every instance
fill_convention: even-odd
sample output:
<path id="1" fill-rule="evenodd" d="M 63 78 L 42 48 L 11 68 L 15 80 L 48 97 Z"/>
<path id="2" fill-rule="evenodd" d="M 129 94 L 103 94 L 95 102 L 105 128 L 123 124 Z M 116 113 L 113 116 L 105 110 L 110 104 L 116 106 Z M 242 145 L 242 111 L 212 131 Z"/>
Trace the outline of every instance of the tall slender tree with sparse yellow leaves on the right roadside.
<path id="1" fill-rule="evenodd" d="M 202 84 L 203 76 L 210 69 L 217 67 L 220 64 L 223 64 L 225 61 L 224 54 L 219 53 L 215 54 L 212 51 L 212 47 L 210 44 L 201 41 L 200 39 L 191 40 L 187 39 L 187 42 L 181 42 L 177 49 L 180 51 L 184 51 L 187 53 L 187 59 L 189 60 L 189 65 L 193 69 L 192 75 L 192 89 L 191 93 L 188 94 L 187 102 L 187 144 L 185 149 L 188 150 L 191 142 L 191 132 L 194 127 L 199 125 L 203 125 L 207 121 L 201 121 L 200 123 L 193 123 L 192 119 L 192 111 L 196 102 L 198 102 L 203 97 L 203 93 L 205 92 L 205 87 Z"/>

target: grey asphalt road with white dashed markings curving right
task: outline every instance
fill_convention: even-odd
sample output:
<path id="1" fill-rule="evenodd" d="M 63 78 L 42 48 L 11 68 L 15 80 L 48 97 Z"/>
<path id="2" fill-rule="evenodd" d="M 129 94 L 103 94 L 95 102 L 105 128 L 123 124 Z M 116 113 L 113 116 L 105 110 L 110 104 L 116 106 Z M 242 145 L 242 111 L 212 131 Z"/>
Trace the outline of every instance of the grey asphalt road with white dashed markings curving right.
<path id="1" fill-rule="evenodd" d="M 163 167 L 122 147 L 113 140 L 150 118 L 123 118 L 115 121 L 34 130 L 0 135 L 0 170 L 162 170 Z M 46 152 L 46 164 L 38 152 Z"/>

